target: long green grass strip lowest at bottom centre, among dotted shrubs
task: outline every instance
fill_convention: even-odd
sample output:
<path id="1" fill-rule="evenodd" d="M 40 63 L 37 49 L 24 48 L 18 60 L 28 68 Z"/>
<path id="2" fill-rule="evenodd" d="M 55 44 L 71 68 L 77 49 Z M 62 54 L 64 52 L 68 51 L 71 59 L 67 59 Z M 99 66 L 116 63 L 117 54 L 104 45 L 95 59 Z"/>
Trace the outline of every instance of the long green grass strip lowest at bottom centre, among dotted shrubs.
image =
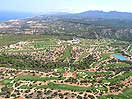
<path id="1" fill-rule="evenodd" d="M 103 86 L 96 86 L 96 87 L 79 87 L 79 86 L 71 86 L 71 85 L 66 85 L 66 84 L 55 84 L 53 82 L 50 82 L 48 85 L 41 85 L 41 86 L 25 86 L 22 85 L 20 87 L 21 89 L 45 89 L 45 88 L 50 88 L 50 89 L 60 89 L 60 90 L 70 90 L 74 92 L 107 92 L 107 88 Z"/>

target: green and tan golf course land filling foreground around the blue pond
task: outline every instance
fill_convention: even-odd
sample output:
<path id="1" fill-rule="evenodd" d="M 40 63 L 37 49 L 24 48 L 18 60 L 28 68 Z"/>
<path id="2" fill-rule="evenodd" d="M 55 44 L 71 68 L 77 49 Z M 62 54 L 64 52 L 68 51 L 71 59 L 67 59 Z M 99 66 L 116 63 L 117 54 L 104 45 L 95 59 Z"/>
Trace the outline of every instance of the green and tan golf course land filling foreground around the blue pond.
<path id="1" fill-rule="evenodd" d="M 123 86 L 126 87 L 123 81 L 132 76 L 131 60 L 118 61 L 110 57 L 113 53 L 121 53 L 130 59 L 127 47 L 131 44 L 128 42 L 81 38 L 79 44 L 71 44 L 61 41 L 65 40 L 65 36 L 58 40 L 59 36 L 3 34 L 1 40 L 9 37 L 9 41 L 0 45 L 7 45 L 0 49 L 0 84 L 2 88 L 4 86 L 3 89 L 0 87 L 2 95 L 6 93 L 6 89 L 13 89 L 15 86 L 16 89 L 13 90 L 19 93 L 22 93 L 22 89 L 45 89 L 45 93 L 55 89 L 56 92 L 67 90 L 69 94 L 92 93 L 100 95 L 99 99 L 131 99 L 130 86 L 122 94 L 101 96 L 111 92 L 111 87 L 112 91 L 120 91 Z M 72 38 L 66 38 L 69 39 Z M 10 44 L 22 49 L 8 47 Z M 19 72 L 29 75 L 16 75 Z M 37 76 L 36 73 L 41 75 L 42 72 L 45 77 Z M 8 95 L 10 96 L 9 93 Z"/>

